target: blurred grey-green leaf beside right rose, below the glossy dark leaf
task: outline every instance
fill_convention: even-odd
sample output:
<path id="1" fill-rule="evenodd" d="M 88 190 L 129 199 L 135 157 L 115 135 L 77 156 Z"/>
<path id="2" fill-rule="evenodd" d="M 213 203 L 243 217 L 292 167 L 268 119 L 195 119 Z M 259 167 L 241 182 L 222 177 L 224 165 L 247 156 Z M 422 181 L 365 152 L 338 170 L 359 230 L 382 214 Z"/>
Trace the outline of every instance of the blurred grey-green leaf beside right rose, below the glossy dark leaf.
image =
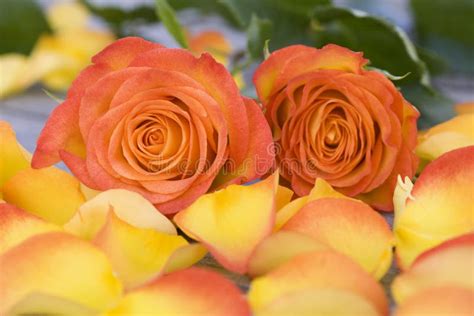
<path id="1" fill-rule="evenodd" d="M 454 117 L 454 101 L 419 84 L 408 84 L 400 87 L 403 96 L 421 113 L 418 119 L 420 129 L 429 128 Z"/>

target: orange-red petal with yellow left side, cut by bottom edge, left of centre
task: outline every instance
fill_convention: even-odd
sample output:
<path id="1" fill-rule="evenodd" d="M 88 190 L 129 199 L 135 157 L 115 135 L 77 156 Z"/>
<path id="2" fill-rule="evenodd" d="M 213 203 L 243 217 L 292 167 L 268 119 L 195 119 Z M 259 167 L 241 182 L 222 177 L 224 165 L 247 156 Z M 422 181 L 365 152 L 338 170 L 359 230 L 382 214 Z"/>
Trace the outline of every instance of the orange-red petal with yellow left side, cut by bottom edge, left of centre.
<path id="1" fill-rule="evenodd" d="M 239 289 L 216 272 L 199 268 L 165 275 L 129 292 L 113 315 L 247 316 L 250 308 Z"/>

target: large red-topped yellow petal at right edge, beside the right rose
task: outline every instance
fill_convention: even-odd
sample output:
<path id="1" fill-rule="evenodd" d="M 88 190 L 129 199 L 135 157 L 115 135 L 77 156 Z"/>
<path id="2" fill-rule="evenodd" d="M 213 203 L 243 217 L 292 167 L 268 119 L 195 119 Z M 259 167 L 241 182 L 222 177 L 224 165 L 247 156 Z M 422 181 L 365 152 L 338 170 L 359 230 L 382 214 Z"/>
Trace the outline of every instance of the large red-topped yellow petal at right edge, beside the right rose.
<path id="1" fill-rule="evenodd" d="M 399 203 L 394 233 L 399 266 L 423 251 L 474 229 L 474 146 L 450 151 L 426 166 Z"/>

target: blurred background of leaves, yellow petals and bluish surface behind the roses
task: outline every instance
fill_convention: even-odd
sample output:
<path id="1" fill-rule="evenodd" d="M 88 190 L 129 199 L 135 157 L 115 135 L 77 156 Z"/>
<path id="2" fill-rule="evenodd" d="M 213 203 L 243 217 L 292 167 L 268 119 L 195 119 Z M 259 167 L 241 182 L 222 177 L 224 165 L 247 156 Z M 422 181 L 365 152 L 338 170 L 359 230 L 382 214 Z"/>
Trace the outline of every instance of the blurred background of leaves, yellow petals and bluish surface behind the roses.
<path id="1" fill-rule="evenodd" d="M 265 52 L 343 45 L 393 80 L 420 128 L 474 100 L 472 0 L 0 0 L 0 119 L 34 150 L 72 80 L 124 36 L 210 52 L 252 97 Z"/>

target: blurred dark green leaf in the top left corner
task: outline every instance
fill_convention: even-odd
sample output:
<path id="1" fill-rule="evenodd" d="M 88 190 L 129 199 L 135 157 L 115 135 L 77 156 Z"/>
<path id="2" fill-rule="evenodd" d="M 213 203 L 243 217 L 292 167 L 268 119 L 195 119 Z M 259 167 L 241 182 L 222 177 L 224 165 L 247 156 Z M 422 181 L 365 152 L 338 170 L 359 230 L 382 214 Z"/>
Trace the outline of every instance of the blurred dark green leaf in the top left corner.
<path id="1" fill-rule="evenodd" d="M 46 17 L 35 1 L 0 1 L 0 54 L 29 54 L 39 36 L 49 31 Z"/>

